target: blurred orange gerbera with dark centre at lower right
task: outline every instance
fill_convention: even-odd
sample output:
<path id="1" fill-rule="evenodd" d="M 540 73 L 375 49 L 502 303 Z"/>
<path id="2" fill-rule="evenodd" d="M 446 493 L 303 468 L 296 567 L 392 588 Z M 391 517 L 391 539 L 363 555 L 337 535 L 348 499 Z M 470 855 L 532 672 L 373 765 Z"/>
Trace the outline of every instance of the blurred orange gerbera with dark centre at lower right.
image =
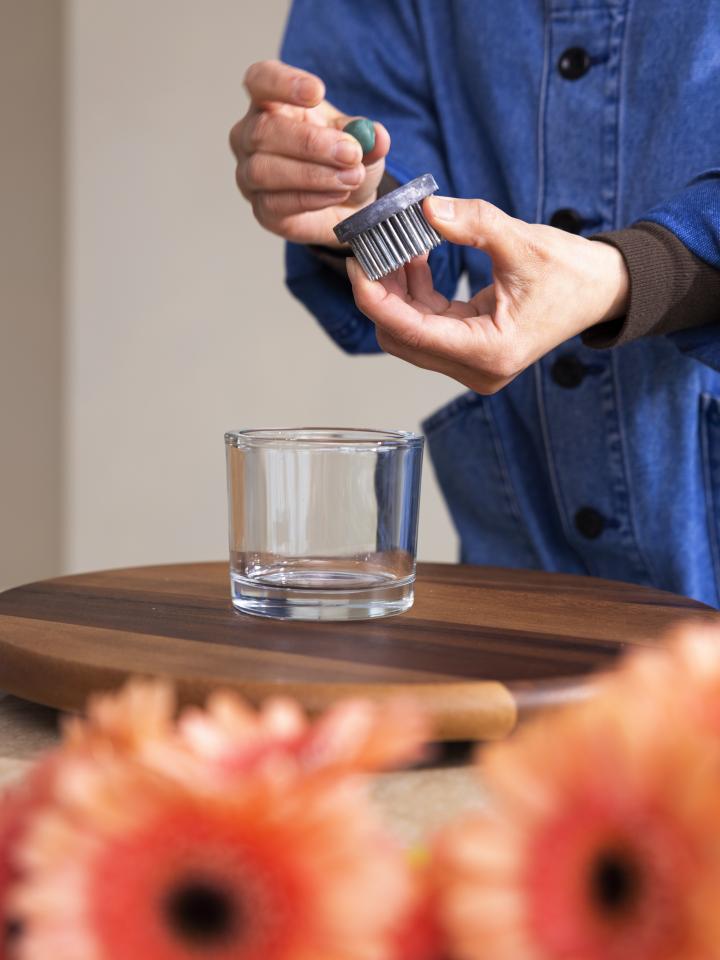
<path id="1" fill-rule="evenodd" d="M 717 956 L 714 747 L 617 692 L 489 751 L 492 811 L 438 843 L 459 960 Z"/>

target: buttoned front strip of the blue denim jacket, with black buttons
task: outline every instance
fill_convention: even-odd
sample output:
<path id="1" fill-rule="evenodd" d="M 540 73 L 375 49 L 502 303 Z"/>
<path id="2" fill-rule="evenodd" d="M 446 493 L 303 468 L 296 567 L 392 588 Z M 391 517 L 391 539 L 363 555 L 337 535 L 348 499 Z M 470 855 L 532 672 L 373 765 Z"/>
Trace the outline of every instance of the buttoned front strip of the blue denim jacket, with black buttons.
<path id="1" fill-rule="evenodd" d="M 589 235 L 618 226 L 618 136 L 628 0 L 547 0 L 539 219 Z M 596 576 L 650 582 L 633 522 L 621 384 L 611 352 L 578 339 L 536 365 L 556 506 Z"/>

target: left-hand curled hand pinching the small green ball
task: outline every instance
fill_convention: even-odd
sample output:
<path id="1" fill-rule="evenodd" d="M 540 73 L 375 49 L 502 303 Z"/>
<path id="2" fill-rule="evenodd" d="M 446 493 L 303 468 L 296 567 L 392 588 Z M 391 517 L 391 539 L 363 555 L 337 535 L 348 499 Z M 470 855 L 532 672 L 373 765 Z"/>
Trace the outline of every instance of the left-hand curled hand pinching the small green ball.
<path id="1" fill-rule="evenodd" d="M 250 106 L 230 131 L 236 180 L 258 221 L 295 243 L 339 246 L 332 228 L 377 197 L 390 137 L 375 124 L 375 146 L 342 128 L 352 117 L 323 99 L 319 77 L 277 60 L 245 74 Z"/>

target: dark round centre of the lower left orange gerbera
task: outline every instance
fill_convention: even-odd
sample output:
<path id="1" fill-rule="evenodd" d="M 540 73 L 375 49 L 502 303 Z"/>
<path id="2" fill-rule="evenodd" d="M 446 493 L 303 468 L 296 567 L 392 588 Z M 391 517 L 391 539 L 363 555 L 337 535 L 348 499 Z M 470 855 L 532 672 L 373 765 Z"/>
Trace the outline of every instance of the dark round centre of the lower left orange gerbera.
<path id="1" fill-rule="evenodd" d="M 167 898 L 165 914 L 173 931 L 198 946 L 226 941 L 240 924 L 238 905 L 221 886 L 186 880 Z"/>

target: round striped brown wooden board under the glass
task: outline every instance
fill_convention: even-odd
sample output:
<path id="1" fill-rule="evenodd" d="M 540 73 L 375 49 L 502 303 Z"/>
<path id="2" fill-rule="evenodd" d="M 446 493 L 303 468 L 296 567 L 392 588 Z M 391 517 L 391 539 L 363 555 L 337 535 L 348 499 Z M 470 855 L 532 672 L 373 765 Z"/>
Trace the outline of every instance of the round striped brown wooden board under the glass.
<path id="1" fill-rule="evenodd" d="M 111 570 L 0 594 L 0 689 L 65 710 L 130 675 L 169 677 L 183 702 L 216 687 L 316 712 L 348 695 L 412 691 L 446 740 L 505 736 L 518 717 L 584 696 L 588 678 L 678 620 L 684 597 L 532 571 L 420 564 L 400 617 L 300 623 L 243 616 L 224 563 Z"/>

